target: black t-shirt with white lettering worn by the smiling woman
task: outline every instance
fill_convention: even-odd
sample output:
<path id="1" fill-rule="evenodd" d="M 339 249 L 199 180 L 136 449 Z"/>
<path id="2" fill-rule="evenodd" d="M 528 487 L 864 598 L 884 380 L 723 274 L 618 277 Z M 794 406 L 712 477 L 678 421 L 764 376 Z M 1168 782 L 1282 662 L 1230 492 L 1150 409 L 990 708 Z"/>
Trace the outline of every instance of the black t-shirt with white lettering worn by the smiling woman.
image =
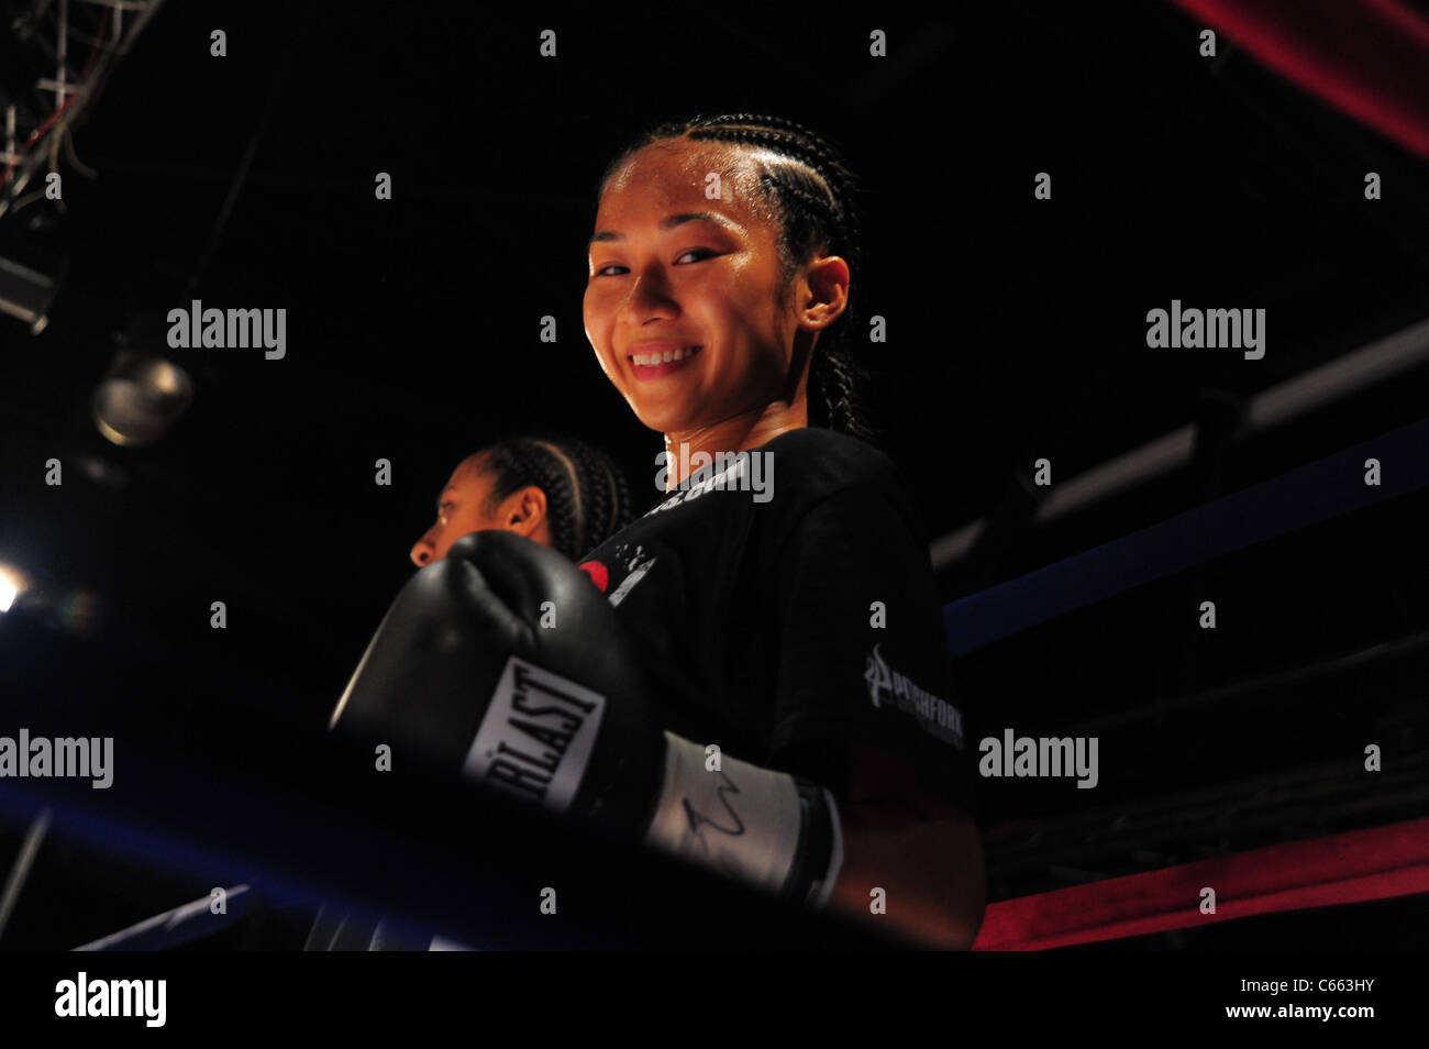
<path id="1" fill-rule="evenodd" d="M 927 547 L 876 449 L 783 433 L 694 470 L 580 567 L 669 683 L 670 732 L 840 802 L 877 740 L 977 815 Z"/>

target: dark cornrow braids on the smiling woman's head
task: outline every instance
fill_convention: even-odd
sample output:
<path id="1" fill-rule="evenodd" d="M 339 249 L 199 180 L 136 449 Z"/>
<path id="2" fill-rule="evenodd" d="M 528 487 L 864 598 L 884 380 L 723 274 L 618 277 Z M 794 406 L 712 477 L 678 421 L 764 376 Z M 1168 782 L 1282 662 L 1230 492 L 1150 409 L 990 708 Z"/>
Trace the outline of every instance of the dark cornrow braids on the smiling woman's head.
<path id="1" fill-rule="evenodd" d="M 766 160 L 760 186 L 780 222 L 779 260 L 787 287 L 820 246 L 849 263 L 850 289 L 862 276 L 863 246 L 859 232 L 856 194 L 857 176 L 849 170 L 839 150 L 827 140 L 782 117 L 732 113 L 716 117 L 696 116 L 659 124 L 626 147 L 600 177 L 606 183 L 634 153 L 669 139 L 729 141 L 779 154 L 786 163 Z M 599 194 L 597 194 L 599 197 Z M 599 206 L 599 199 L 597 199 Z M 867 373 L 859 366 L 853 347 L 862 320 L 857 296 L 849 294 L 845 312 L 823 330 L 809 369 L 810 403 L 823 409 L 823 424 L 879 443 L 879 427 L 866 400 Z M 855 336 L 856 337 L 856 336 Z"/>

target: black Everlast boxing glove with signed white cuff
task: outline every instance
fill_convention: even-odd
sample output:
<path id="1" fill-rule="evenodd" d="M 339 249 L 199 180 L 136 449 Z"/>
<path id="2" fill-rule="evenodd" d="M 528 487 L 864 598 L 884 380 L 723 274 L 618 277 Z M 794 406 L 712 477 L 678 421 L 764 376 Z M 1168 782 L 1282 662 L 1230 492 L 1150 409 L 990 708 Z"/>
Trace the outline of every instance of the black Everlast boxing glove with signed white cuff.
<path id="1" fill-rule="evenodd" d="M 332 727 L 823 905 L 843 860 L 833 796 L 729 756 L 712 770 L 660 727 L 669 687 L 589 576 L 477 532 L 397 595 Z"/>

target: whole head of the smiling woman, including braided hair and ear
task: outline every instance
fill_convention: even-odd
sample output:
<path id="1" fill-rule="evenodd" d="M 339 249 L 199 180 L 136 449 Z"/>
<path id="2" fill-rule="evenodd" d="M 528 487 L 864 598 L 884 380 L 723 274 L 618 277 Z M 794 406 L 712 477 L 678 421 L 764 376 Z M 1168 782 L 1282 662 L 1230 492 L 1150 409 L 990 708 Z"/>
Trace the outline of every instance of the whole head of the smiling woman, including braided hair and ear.
<path id="1" fill-rule="evenodd" d="M 712 129 L 687 137 L 684 126 L 656 129 L 606 171 L 584 296 L 586 336 L 602 369 L 646 426 L 674 440 L 667 422 L 697 429 L 769 394 L 807 413 L 810 372 L 829 422 L 870 439 L 856 403 L 860 372 L 840 342 L 855 323 L 847 289 L 860 264 L 859 227 L 852 202 L 836 204 L 819 167 L 845 196 L 852 173 L 815 139 L 806 139 L 810 167 L 789 156 L 789 133 L 782 151 L 773 127 L 745 126 L 743 149 Z M 827 250 L 812 257 L 817 247 Z M 629 323 L 624 314 L 662 293 L 677 293 L 677 323 L 647 323 L 659 306 L 640 326 Z M 800 322 L 810 296 L 817 299 Z M 810 360 L 820 333 L 823 349 Z M 725 382 L 712 383 L 714 374 Z M 674 376 L 683 382 L 660 382 Z M 800 386 L 780 386 L 792 379 Z"/>

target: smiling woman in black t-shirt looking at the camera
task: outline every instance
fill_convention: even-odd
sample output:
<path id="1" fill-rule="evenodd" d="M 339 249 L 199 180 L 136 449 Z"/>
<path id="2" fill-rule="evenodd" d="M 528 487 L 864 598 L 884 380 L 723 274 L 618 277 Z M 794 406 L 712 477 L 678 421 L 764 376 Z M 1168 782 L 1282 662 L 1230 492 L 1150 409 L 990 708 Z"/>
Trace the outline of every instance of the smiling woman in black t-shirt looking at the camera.
<path id="1" fill-rule="evenodd" d="M 666 500 L 582 567 L 643 657 L 687 686 L 659 710 L 674 737 L 827 787 L 832 906 L 966 948 L 985 900 L 976 780 L 962 712 L 922 713 L 955 707 L 926 546 L 869 443 L 845 342 L 862 269 L 853 190 L 826 140 L 749 114 L 663 124 L 607 167 L 584 294 L 602 370 L 682 450 L 667 490 L 702 480 L 684 476 L 692 460 L 756 450 L 780 484 L 765 500 L 727 486 Z M 880 702 L 893 682 L 937 702 Z M 700 775 L 679 757 L 669 769 L 703 815 Z M 746 847 L 787 826 L 775 792 L 736 807 Z M 663 843 L 714 855 L 733 826 L 673 820 Z M 812 846 L 785 847 L 797 867 Z"/>

